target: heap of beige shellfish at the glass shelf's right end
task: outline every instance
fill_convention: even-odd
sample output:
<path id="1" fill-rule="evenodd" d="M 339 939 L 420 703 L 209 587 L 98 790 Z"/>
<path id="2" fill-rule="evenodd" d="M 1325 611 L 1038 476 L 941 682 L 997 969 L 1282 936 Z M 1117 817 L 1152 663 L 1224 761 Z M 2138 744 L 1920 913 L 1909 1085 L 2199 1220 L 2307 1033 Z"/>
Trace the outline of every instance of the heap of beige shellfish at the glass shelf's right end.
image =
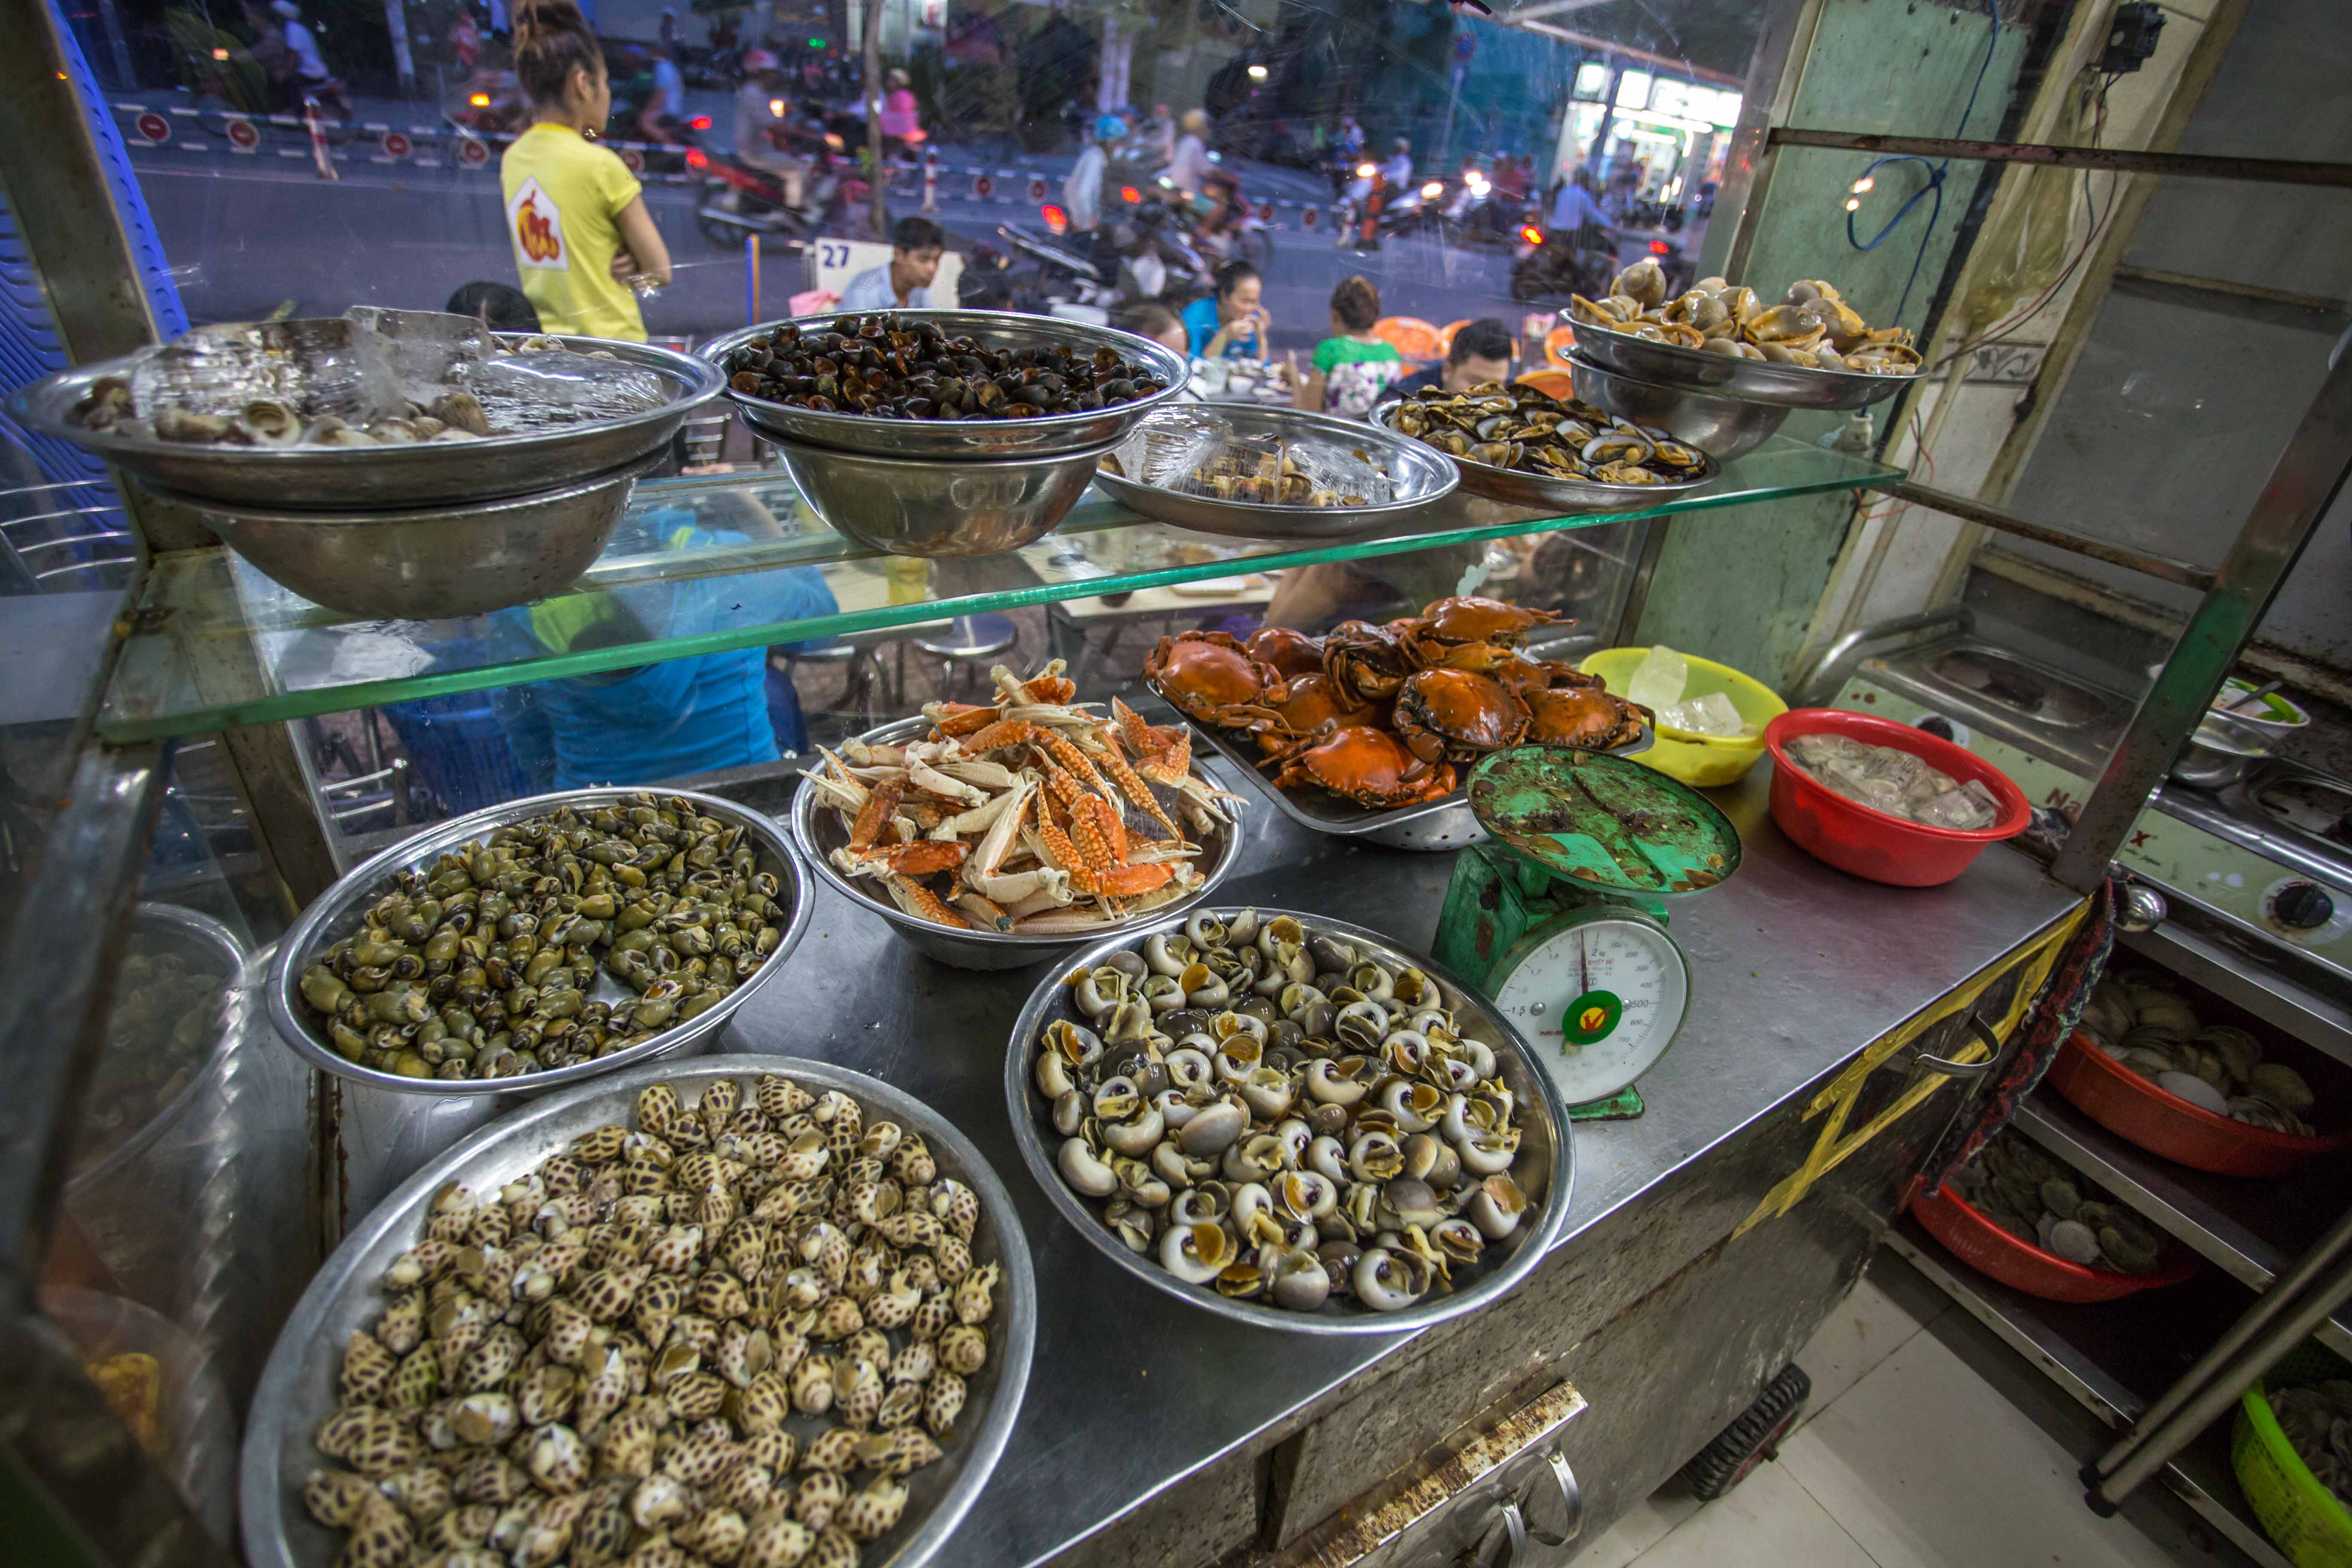
<path id="1" fill-rule="evenodd" d="M 1872 327 L 1820 277 L 1792 282 L 1778 303 L 1722 277 L 1700 277 L 1668 299 L 1665 270 L 1644 256 L 1616 275 L 1604 299 L 1571 296 L 1569 315 L 1651 343 L 1804 369 L 1915 376 L 1922 364 L 1910 329 Z"/>

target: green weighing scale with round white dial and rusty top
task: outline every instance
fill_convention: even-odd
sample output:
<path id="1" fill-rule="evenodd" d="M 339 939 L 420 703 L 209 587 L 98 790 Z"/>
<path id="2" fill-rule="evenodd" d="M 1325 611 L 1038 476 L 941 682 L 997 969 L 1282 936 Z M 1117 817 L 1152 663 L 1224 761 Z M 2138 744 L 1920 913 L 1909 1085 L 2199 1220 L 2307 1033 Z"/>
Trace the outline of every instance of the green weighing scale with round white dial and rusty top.
<path id="1" fill-rule="evenodd" d="M 1740 867 L 1740 835 L 1684 783 L 1541 745 L 1470 769 L 1484 844 L 1461 851 L 1437 961 L 1534 1046 L 1576 1121 L 1642 1114 L 1635 1088 L 1691 1011 L 1665 898 Z"/>

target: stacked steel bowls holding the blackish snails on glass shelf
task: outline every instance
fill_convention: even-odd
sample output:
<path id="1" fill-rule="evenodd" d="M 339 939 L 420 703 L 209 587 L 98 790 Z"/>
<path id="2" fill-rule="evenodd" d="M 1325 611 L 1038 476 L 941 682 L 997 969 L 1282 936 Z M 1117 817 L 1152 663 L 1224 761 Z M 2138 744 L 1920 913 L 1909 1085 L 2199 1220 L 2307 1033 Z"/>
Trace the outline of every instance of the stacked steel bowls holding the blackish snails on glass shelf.
<path id="1" fill-rule="evenodd" d="M 701 355 L 724 371 L 753 339 L 779 327 L 821 331 L 840 317 L 833 310 L 760 322 L 703 343 Z M 1089 414 L 920 421 L 821 414 L 727 388 L 743 423 L 776 444 L 809 508 L 835 534 L 889 555 L 997 555 L 1044 538 L 1087 494 L 1096 458 L 1174 400 L 1190 371 L 1162 343 L 1061 317 L 1014 310 L 894 310 L 891 317 L 927 320 L 983 348 L 1068 343 L 1082 355 L 1110 348 L 1143 364 L 1162 390 Z"/>

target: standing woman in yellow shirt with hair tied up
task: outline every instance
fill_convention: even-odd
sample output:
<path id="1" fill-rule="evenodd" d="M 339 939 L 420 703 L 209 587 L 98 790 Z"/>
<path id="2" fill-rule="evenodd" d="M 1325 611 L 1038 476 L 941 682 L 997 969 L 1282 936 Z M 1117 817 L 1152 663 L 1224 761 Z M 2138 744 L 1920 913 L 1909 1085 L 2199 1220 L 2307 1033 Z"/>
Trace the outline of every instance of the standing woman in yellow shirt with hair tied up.
<path id="1" fill-rule="evenodd" d="M 590 132 L 612 115 L 604 52 L 576 0 L 515 5 L 515 78 L 532 129 L 499 162 L 506 237 L 548 331 L 644 341 L 628 280 L 670 282 L 670 249 L 637 179 Z"/>

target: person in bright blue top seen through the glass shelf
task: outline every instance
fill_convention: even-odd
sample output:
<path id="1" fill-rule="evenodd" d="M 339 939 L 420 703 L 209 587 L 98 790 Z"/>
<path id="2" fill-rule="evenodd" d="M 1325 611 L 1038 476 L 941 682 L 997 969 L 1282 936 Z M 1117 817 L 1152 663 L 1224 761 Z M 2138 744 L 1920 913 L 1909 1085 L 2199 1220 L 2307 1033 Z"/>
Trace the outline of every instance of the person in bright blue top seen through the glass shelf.
<path id="1" fill-rule="evenodd" d="M 750 503 L 757 505 L 757 503 Z M 774 534 L 769 517 L 750 531 L 713 527 L 691 508 L 666 505 L 628 517 L 607 555 L 637 550 L 720 550 Z M 515 658 L 583 654 L 661 637 L 699 637 L 731 628 L 828 616 L 833 590 L 814 567 L 710 574 L 572 592 L 499 611 L 494 639 Z M 764 646 L 569 675 L 506 686 L 499 722 L 534 790 L 576 790 L 710 773 L 776 762 L 783 748 L 807 748 L 800 698 L 771 672 Z"/>

